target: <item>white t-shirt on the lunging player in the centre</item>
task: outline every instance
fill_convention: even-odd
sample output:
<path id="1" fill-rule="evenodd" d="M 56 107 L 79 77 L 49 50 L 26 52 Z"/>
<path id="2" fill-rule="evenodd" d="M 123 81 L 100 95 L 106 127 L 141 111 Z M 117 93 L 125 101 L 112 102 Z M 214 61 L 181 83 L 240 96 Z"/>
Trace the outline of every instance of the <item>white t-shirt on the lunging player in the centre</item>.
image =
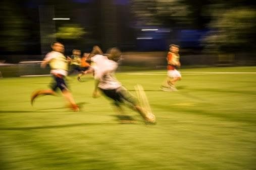
<path id="1" fill-rule="evenodd" d="M 118 67 L 115 61 L 109 60 L 104 55 L 94 55 L 91 61 L 94 62 L 92 64 L 94 78 L 99 80 L 98 87 L 100 89 L 117 89 L 122 86 L 114 76 L 114 72 Z"/>

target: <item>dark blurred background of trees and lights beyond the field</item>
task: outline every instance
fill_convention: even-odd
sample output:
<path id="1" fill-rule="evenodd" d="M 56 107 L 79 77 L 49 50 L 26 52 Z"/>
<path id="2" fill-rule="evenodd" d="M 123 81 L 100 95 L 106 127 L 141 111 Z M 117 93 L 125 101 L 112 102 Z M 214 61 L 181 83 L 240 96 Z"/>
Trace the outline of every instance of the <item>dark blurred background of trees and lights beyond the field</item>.
<path id="1" fill-rule="evenodd" d="M 256 64 L 252 1 L 4 0 L 0 11 L 3 74 L 7 63 L 42 60 L 53 41 L 66 55 L 118 47 L 127 66 L 165 68 L 169 44 L 183 66 Z"/>

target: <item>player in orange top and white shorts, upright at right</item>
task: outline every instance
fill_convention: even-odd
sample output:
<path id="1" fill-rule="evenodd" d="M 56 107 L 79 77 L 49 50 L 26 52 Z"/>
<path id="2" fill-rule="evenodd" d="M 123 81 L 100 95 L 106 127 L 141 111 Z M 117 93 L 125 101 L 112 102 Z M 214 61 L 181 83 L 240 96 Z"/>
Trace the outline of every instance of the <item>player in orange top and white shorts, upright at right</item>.
<path id="1" fill-rule="evenodd" d="M 169 52 L 167 55 L 167 79 L 165 83 L 161 86 L 163 91 L 177 91 L 174 84 L 177 80 L 181 80 L 181 74 L 176 69 L 180 67 L 180 55 L 179 55 L 180 47 L 175 44 L 171 44 L 169 46 Z"/>

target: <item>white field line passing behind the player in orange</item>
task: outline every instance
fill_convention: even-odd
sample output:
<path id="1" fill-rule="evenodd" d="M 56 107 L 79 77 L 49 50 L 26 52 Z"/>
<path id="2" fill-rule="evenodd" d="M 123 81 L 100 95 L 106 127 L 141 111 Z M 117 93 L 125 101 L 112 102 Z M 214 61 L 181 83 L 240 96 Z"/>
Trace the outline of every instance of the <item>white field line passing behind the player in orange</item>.
<path id="1" fill-rule="evenodd" d="M 130 72 L 130 75 L 166 75 L 167 72 Z M 211 72 L 211 71 L 184 71 L 182 75 L 208 75 L 208 74 L 256 74 L 256 72 Z"/>

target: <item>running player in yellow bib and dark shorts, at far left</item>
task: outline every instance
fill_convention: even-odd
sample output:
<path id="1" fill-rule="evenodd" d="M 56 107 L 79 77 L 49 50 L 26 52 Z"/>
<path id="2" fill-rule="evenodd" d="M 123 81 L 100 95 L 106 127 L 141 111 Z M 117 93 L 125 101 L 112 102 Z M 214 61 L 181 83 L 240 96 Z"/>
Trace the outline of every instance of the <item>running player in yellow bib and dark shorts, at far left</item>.
<path id="1" fill-rule="evenodd" d="M 50 65 L 50 73 L 53 74 L 55 83 L 54 86 L 51 86 L 49 90 L 38 90 L 32 93 L 31 96 L 31 105 L 33 105 L 35 98 L 42 95 L 53 95 L 56 96 L 57 89 L 59 88 L 64 96 L 64 98 L 68 101 L 70 107 L 74 111 L 79 111 L 79 107 L 76 105 L 72 94 L 70 93 L 69 89 L 67 88 L 65 82 L 65 76 L 68 74 L 68 60 L 63 55 L 65 49 L 64 45 L 60 42 L 53 42 L 52 43 L 52 51 L 47 53 L 45 58 L 41 63 L 41 67 L 45 68 L 46 65 L 49 63 Z"/>

